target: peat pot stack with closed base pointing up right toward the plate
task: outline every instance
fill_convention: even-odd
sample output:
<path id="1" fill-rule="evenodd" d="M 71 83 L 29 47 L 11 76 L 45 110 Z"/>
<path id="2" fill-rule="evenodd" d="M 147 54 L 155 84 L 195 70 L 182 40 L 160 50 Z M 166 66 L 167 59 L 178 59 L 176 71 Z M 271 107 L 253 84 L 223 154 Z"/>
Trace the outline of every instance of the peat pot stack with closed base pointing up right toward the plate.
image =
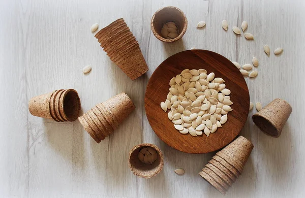
<path id="1" fill-rule="evenodd" d="M 117 126 L 135 109 L 126 93 L 111 97 L 104 103 L 97 104 L 78 118 L 88 134 L 100 143 L 113 133 Z"/>

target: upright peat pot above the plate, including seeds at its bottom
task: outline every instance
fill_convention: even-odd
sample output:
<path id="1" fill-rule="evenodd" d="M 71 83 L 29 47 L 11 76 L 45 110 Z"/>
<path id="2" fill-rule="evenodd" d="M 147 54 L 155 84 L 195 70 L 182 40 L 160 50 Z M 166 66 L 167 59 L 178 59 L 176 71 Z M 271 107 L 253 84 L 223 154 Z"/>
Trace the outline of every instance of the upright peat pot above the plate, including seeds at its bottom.
<path id="1" fill-rule="evenodd" d="M 174 42 L 184 36 L 188 20 L 178 8 L 168 6 L 158 10 L 151 18 L 150 28 L 157 39 L 163 42 Z"/>

